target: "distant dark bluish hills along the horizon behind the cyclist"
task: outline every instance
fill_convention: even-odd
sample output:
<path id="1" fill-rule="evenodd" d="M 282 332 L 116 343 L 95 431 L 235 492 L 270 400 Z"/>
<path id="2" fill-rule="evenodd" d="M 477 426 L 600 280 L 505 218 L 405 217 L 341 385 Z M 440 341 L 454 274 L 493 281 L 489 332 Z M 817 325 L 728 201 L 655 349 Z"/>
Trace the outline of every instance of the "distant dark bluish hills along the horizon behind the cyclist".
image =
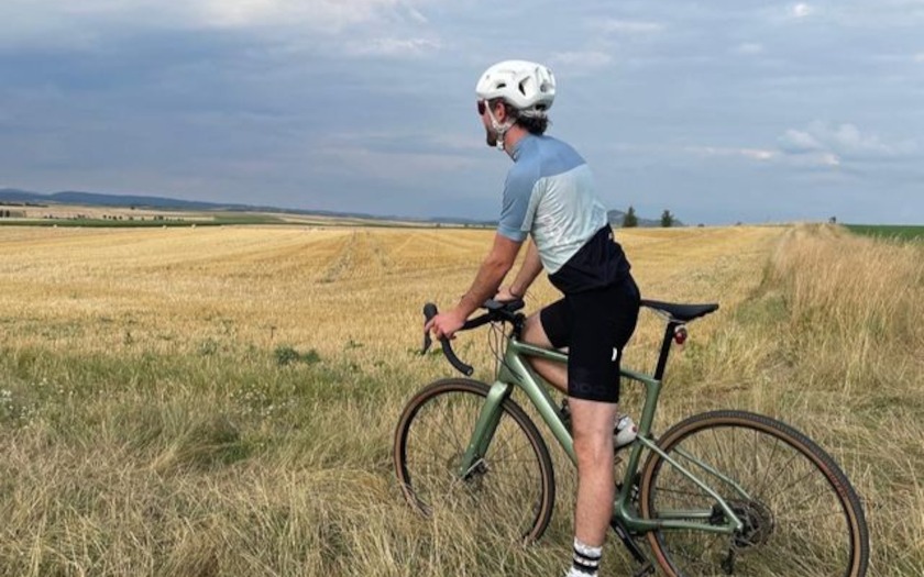
<path id="1" fill-rule="evenodd" d="M 219 202 L 201 202 L 196 200 L 180 200 L 175 198 L 152 197 L 152 196 L 136 196 L 136 195 L 103 195 L 99 192 L 80 192 L 74 190 L 65 190 L 54 192 L 51 195 L 42 195 L 38 192 L 31 192 L 29 190 L 20 190 L 15 188 L 0 189 L 0 202 L 19 203 L 19 204 L 79 204 L 85 207 L 135 207 L 145 209 L 161 209 L 161 210 L 201 210 L 201 211 L 230 211 L 230 212 L 282 212 L 287 214 L 307 214 L 318 217 L 332 217 L 341 219 L 369 219 L 369 220 L 403 220 L 415 222 L 444 222 L 451 224 L 475 224 L 475 225 L 491 225 L 496 221 L 483 221 L 475 219 L 461 219 L 455 217 L 437 217 L 430 219 L 410 219 L 399 215 L 376 215 L 365 214 L 360 212 L 338 212 L 328 210 L 298 210 L 298 209 L 283 209 L 279 207 L 252 206 L 252 204 L 226 204 Z M 623 218 L 625 212 L 613 210 L 608 212 L 609 223 L 614 226 L 623 225 Z M 638 219 L 639 226 L 660 226 L 661 221 Z M 675 221 L 676 226 L 682 226 L 679 221 Z"/>

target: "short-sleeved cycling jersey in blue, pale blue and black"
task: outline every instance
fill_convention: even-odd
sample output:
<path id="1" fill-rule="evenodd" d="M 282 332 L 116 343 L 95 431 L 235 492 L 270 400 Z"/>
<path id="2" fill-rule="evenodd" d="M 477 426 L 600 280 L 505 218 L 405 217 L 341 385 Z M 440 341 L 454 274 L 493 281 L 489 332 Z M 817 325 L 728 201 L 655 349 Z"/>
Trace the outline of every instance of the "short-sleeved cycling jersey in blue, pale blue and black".
<path id="1" fill-rule="evenodd" d="M 531 234 L 550 280 L 565 292 L 625 278 L 629 264 L 613 242 L 606 208 L 581 155 L 557 138 L 529 134 L 513 157 L 497 232 L 517 242 Z"/>

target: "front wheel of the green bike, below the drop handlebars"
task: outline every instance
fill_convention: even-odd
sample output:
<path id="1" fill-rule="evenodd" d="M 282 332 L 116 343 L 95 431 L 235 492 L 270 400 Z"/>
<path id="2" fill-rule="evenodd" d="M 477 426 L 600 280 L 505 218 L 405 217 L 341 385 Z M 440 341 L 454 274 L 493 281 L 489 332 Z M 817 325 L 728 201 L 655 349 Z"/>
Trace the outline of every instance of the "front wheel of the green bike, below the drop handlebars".
<path id="1" fill-rule="evenodd" d="M 476 513 L 493 531 L 509 530 L 532 542 L 552 515 L 554 471 L 546 442 L 512 399 L 502 403 L 501 422 L 477 467 L 468 478 L 459 476 L 488 391 L 487 385 L 471 379 L 443 379 L 422 388 L 395 430 L 395 471 L 405 499 L 424 515 L 431 515 L 435 507 L 449 508 L 451 514 Z"/>

